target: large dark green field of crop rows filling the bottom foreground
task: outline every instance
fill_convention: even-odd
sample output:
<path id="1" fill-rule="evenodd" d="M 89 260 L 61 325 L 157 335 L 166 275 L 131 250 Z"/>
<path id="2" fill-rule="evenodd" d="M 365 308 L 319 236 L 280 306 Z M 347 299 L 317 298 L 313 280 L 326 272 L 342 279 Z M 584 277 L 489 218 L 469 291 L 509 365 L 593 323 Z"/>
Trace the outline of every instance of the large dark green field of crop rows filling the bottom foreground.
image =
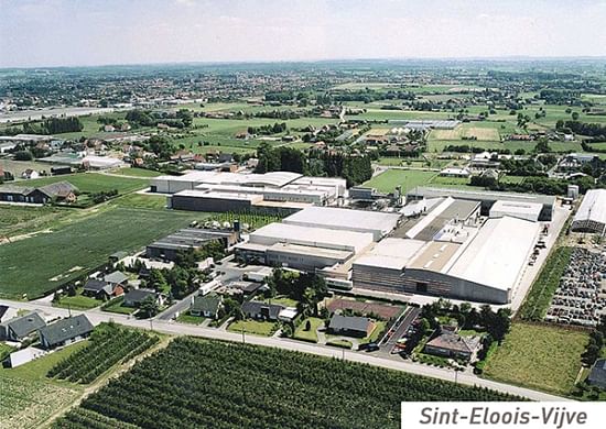
<path id="1" fill-rule="evenodd" d="M 178 338 L 65 419 L 89 427 L 74 415 L 84 408 L 141 428 L 382 429 L 399 427 L 402 400 L 512 399 L 336 359 Z"/>

